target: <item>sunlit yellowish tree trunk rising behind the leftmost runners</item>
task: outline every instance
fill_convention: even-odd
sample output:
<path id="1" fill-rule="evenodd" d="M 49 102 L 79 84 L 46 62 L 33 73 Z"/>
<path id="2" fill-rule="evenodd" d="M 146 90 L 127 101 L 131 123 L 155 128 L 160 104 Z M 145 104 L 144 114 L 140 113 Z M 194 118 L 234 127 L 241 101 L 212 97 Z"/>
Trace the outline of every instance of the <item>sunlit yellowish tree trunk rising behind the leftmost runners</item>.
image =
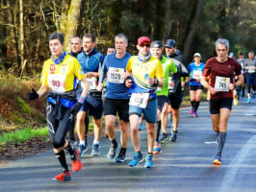
<path id="1" fill-rule="evenodd" d="M 69 10 L 67 13 L 67 22 L 65 25 L 65 49 L 70 52 L 70 40 L 73 36 L 76 36 L 79 16 L 80 16 L 80 6 L 82 0 L 71 0 Z"/>

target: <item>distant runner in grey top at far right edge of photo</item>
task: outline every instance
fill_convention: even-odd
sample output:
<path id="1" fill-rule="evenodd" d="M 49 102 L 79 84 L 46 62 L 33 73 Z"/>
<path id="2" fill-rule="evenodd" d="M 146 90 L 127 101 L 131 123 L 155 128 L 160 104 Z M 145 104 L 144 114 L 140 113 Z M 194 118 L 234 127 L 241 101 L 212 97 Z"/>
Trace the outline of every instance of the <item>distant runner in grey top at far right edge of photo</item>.
<path id="1" fill-rule="evenodd" d="M 255 91 L 256 91 L 256 60 L 254 59 L 254 52 L 250 51 L 248 53 L 248 59 L 245 60 L 244 63 L 245 70 L 246 70 L 246 84 L 248 86 L 248 91 L 247 91 L 247 103 L 251 103 L 251 88 L 252 88 L 252 96 L 255 96 Z"/>

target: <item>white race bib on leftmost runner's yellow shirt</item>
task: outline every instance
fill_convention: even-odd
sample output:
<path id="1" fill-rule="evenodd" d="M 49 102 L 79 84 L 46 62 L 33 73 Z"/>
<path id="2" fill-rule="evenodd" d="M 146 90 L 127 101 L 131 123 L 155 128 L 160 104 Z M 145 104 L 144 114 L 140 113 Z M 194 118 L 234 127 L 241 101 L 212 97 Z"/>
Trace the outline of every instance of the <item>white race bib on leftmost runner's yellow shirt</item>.
<path id="1" fill-rule="evenodd" d="M 49 74 L 47 83 L 54 92 L 65 92 L 65 75 L 61 74 Z"/>

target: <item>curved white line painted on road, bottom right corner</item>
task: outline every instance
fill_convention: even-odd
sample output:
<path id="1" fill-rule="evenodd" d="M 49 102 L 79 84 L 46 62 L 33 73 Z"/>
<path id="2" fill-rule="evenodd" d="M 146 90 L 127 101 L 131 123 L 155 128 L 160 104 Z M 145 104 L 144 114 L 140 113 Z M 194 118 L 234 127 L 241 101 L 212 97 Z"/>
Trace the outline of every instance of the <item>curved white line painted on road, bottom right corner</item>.
<path id="1" fill-rule="evenodd" d="M 222 180 L 222 185 L 218 191 L 230 192 L 233 184 L 235 183 L 236 176 L 239 174 L 239 165 L 243 164 L 244 159 L 250 151 L 255 148 L 256 135 L 252 136 L 243 148 L 240 150 L 237 156 L 231 161 L 229 168 L 226 171 L 225 177 Z"/>

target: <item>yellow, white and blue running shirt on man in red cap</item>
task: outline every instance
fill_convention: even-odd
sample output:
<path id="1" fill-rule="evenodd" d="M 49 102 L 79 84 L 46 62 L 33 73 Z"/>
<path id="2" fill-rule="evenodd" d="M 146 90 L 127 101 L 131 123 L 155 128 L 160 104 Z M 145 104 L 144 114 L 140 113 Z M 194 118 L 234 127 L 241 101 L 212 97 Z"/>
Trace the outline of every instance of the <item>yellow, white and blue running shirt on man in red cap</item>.
<path id="1" fill-rule="evenodd" d="M 132 56 L 128 60 L 126 70 L 133 73 L 133 85 L 130 91 L 132 93 L 155 92 L 156 87 L 146 83 L 148 77 L 161 79 L 164 78 L 164 70 L 161 61 L 150 57 L 145 62 L 138 59 L 138 56 Z"/>

